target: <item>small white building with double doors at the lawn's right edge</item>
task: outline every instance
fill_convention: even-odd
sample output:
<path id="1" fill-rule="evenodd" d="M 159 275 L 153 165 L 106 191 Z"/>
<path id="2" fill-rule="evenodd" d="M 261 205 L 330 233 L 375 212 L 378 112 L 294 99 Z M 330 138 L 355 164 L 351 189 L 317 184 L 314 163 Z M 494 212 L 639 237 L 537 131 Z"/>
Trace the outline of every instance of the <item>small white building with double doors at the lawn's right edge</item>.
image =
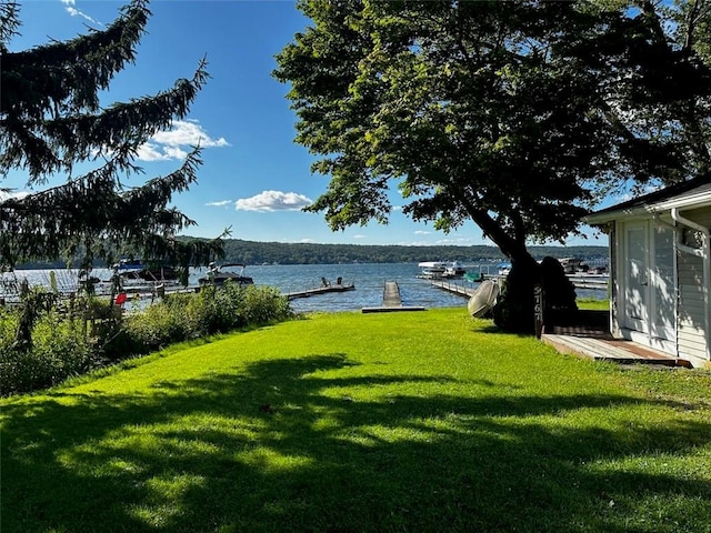
<path id="1" fill-rule="evenodd" d="M 610 331 L 711 365 L 711 175 L 585 218 L 610 240 Z"/>

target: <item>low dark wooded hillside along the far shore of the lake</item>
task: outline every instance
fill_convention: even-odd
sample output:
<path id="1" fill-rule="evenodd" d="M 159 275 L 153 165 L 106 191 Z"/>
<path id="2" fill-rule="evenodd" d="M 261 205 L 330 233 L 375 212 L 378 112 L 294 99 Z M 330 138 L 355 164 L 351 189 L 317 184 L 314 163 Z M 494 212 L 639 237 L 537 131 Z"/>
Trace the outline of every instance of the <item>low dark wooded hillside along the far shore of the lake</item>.
<path id="1" fill-rule="evenodd" d="M 194 238 L 182 237 L 181 240 Z M 591 262 L 608 258 L 607 247 L 530 247 L 535 259 L 582 258 Z M 475 263 L 505 258 L 495 247 L 402 247 L 365 244 L 313 244 L 224 240 L 223 262 L 244 264 L 336 264 L 336 263 L 417 263 L 420 261 L 460 261 Z M 22 269 L 61 269 L 63 261 L 26 263 Z M 96 264 L 94 266 L 104 266 Z"/>

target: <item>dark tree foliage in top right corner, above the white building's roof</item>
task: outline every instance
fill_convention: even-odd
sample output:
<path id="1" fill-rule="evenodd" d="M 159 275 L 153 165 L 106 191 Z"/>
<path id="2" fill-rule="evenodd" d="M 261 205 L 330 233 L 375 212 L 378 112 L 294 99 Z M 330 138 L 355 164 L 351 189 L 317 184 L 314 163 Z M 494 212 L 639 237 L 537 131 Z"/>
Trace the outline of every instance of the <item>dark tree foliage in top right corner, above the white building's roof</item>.
<path id="1" fill-rule="evenodd" d="M 618 178 L 674 183 L 711 172 L 711 1 L 580 2 L 593 34 L 572 53 L 600 74 L 595 107 Z"/>

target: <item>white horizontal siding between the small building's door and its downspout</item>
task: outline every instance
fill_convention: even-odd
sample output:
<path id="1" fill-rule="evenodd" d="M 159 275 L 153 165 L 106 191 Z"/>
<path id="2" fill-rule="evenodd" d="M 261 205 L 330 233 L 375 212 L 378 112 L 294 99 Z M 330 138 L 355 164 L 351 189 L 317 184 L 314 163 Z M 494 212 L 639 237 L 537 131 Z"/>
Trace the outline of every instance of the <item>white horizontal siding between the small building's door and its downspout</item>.
<path id="1" fill-rule="evenodd" d="M 711 208 L 682 212 L 683 217 L 705 228 L 711 227 Z M 684 243 L 700 247 L 701 234 L 687 230 Z M 704 279 L 711 280 L 711 272 L 704 276 L 704 263 L 699 257 L 679 252 L 679 316 L 678 346 L 679 356 L 692 361 L 708 361 L 709 355 L 709 322 L 707 306 L 709 295 L 705 294 Z"/>

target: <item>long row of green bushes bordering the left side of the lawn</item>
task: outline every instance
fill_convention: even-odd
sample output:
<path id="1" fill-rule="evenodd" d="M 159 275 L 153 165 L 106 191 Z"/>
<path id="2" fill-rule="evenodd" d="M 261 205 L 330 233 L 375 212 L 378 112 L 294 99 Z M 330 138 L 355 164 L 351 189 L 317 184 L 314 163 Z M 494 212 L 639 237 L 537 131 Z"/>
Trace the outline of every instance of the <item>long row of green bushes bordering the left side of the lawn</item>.
<path id="1" fill-rule="evenodd" d="M 19 312 L 0 309 L 2 395 L 51 386 L 101 364 L 171 343 L 293 316 L 278 290 L 232 283 L 199 293 L 170 294 L 127 315 L 97 300 L 83 302 L 82 309 L 94 319 L 87 328 L 83 320 L 72 319 L 72 313 L 53 309 L 42 314 L 32 329 L 32 344 L 24 350 L 14 345 Z"/>

